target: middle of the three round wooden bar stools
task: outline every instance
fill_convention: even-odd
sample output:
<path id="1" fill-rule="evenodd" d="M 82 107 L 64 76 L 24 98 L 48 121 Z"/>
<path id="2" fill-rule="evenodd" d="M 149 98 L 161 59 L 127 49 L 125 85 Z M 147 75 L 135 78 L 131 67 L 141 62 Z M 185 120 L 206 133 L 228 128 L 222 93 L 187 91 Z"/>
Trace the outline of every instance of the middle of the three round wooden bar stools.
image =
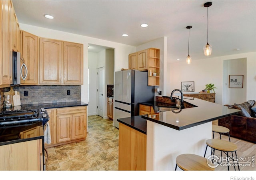
<path id="1" fill-rule="evenodd" d="M 232 160 L 234 160 L 233 152 L 237 156 L 237 154 L 236 154 L 236 150 L 237 150 L 236 144 L 234 144 L 232 142 L 220 140 L 220 139 L 208 139 L 208 140 L 206 140 L 206 149 L 205 149 L 205 152 L 204 152 L 204 157 L 206 155 L 206 151 L 207 151 L 208 146 L 210 148 L 212 148 L 211 155 L 214 155 L 215 150 L 219 150 L 220 152 L 224 152 L 227 155 L 227 159 L 228 159 L 228 152 L 231 152 Z M 233 163 L 234 163 L 234 161 L 233 161 Z M 237 164 L 238 164 L 238 162 L 237 162 Z M 234 166 L 234 168 L 236 170 L 235 166 Z M 228 166 L 228 170 L 229 170 L 229 166 Z M 240 170 L 239 164 L 238 164 L 238 170 Z"/>

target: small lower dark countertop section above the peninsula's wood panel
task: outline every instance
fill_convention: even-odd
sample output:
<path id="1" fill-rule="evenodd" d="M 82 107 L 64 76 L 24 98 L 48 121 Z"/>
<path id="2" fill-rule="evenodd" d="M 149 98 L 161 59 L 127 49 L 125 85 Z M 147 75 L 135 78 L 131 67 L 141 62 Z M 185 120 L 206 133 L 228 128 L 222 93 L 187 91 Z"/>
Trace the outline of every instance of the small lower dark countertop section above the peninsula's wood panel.
<path id="1" fill-rule="evenodd" d="M 128 118 L 120 118 L 117 119 L 118 122 L 125 124 L 135 130 L 146 134 L 147 132 L 147 121 L 146 119 L 142 118 L 141 116 L 133 116 Z"/>

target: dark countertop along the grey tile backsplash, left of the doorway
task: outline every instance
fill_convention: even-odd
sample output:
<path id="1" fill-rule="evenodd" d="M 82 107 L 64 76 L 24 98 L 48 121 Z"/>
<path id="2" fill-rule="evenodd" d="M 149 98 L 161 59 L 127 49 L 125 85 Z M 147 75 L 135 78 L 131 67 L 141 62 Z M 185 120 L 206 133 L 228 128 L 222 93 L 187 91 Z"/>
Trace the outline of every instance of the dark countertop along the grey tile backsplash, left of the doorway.
<path id="1" fill-rule="evenodd" d="M 11 110 L 27 110 L 27 109 L 38 109 L 38 108 L 67 108 L 67 107 L 75 107 L 75 106 L 88 106 L 88 104 L 78 101 L 78 102 L 56 102 L 56 103 L 45 103 L 45 104 L 22 104 L 20 106 L 14 106 L 9 109 Z M 5 111 L 2 109 L 0 112 Z"/>

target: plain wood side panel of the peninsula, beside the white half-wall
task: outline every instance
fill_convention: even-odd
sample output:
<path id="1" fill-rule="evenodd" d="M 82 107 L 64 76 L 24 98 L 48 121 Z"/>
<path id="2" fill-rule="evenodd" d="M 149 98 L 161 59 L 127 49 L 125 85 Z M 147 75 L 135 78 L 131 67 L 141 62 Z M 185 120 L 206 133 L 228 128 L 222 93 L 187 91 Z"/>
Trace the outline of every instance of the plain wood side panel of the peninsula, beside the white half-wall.
<path id="1" fill-rule="evenodd" d="M 147 136 L 119 123 L 118 170 L 146 170 Z"/>

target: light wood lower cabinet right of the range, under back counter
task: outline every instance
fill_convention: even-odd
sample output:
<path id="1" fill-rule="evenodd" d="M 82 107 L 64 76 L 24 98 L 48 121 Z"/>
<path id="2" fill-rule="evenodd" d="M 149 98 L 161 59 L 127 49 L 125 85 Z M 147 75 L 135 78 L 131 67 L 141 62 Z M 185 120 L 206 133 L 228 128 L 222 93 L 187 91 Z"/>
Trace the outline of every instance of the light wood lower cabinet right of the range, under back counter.
<path id="1" fill-rule="evenodd" d="M 46 147 L 84 140 L 87 130 L 87 106 L 47 109 L 50 116 L 51 144 Z"/>

